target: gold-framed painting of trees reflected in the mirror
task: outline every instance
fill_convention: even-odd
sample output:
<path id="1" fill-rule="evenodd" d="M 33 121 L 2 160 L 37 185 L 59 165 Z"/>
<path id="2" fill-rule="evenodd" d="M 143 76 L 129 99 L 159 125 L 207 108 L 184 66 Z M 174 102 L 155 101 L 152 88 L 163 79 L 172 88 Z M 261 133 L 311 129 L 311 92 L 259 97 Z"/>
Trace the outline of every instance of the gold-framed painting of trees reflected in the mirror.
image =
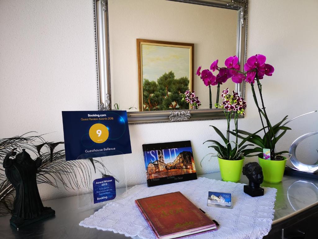
<path id="1" fill-rule="evenodd" d="M 193 43 L 137 39 L 139 111 L 186 110 L 193 91 Z"/>

